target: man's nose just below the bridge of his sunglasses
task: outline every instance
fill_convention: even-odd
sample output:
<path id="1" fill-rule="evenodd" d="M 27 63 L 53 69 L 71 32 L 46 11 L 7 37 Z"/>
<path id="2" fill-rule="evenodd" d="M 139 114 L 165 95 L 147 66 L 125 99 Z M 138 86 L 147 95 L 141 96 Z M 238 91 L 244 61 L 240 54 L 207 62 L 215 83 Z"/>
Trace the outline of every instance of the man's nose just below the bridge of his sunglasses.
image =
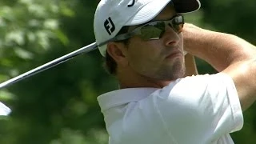
<path id="1" fill-rule="evenodd" d="M 168 26 L 165 33 L 162 35 L 162 38 L 166 46 L 177 46 L 182 36 L 175 32 L 173 28 Z"/>

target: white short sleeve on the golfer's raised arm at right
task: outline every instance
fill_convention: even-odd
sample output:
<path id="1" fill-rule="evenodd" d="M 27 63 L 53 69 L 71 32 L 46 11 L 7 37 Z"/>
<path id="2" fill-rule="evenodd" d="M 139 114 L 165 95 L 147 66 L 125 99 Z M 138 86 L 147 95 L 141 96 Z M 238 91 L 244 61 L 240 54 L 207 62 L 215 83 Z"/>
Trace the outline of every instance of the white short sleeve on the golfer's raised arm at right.
<path id="1" fill-rule="evenodd" d="M 178 142 L 214 142 L 242 129 L 238 93 L 227 74 L 181 78 L 152 98 L 163 125 Z"/>

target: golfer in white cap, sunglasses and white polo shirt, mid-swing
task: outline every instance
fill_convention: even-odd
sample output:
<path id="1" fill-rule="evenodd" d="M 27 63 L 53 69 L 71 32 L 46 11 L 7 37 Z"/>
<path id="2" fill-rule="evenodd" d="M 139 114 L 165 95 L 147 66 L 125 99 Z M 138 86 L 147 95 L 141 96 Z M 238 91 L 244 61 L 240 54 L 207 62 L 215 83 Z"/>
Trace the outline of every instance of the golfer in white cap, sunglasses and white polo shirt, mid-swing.
<path id="1" fill-rule="evenodd" d="M 256 99 L 256 49 L 183 25 L 181 14 L 199 7 L 198 0 L 99 2 L 95 38 L 120 86 L 98 97 L 109 143 L 234 143 L 230 133 L 242 129 L 242 110 Z M 219 73 L 184 77 L 193 66 L 185 66 L 184 50 Z"/>

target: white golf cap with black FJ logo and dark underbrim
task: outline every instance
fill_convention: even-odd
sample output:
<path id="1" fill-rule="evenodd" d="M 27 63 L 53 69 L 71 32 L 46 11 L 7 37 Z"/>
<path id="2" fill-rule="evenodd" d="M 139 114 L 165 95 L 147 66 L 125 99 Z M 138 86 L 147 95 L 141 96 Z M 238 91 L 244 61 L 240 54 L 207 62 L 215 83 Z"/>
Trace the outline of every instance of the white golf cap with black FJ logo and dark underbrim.
<path id="1" fill-rule="evenodd" d="M 134 26 L 149 22 L 170 2 L 177 13 L 198 10 L 199 0 L 101 0 L 94 14 L 94 35 L 96 43 L 114 38 L 123 26 Z M 106 56 L 106 45 L 98 46 Z"/>

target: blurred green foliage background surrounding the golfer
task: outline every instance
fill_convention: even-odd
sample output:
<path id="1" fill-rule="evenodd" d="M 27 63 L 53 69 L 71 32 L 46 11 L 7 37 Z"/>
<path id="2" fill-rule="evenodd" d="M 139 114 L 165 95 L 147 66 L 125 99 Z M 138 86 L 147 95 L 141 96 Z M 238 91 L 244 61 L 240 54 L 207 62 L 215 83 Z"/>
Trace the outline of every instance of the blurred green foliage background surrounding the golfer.
<path id="1" fill-rule="evenodd" d="M 1 0 L 0 82 L 94 42 L 99 0 Z M 186 22 L 256 44 L 255 0 L 202 0 Z M 200 74 L 216 71 L 197 59 Z M 99 94 L 118 88 L 98 50 L 0 90 L 12 113 L 0 118 L 1 144 L 105 144 Z M 238 144 L 256 143 L 256 106 L 244 113 Z"/>

